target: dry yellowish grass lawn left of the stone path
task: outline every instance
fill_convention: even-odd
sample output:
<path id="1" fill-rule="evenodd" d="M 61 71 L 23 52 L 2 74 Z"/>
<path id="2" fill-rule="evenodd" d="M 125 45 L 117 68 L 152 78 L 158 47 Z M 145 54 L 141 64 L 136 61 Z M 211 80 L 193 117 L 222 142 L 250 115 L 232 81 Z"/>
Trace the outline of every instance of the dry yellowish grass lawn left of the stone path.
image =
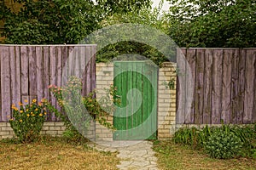
<path id="1" fill-rule="evenodd" d="M 117 169 L 115 153 L 46 137 L 32 144 L 0 140 L 0 169 Z"/>

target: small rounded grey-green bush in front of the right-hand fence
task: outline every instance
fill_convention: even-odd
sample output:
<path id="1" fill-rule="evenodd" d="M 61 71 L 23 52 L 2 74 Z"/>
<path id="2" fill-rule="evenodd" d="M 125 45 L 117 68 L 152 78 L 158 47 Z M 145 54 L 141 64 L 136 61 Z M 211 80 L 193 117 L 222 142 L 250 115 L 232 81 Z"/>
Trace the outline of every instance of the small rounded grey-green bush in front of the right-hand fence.
<path id="1" fill-rule="evenodd" d="M 224 130 L 215 131 L 205 143 L 205 150 L 212 158 L 230 159 L 241 151 L 241 139 L 234 133 Z"/>

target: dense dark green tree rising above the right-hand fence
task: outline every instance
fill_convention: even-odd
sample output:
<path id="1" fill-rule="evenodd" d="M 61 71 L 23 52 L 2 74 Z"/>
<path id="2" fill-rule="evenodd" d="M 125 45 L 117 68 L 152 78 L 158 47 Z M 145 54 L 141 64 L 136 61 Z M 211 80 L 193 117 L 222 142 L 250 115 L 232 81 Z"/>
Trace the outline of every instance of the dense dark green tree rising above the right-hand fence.
<path id="1" fill-rule="evenodd" d="M 255 47 L 255 1 L 169 1 L 169 35 L 180 47 Z"/>

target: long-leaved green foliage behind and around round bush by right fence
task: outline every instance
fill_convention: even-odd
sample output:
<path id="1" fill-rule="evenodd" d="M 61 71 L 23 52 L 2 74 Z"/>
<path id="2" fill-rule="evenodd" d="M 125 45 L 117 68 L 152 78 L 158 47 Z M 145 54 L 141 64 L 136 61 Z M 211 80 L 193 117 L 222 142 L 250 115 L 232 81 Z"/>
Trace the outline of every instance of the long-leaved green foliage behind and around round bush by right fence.
<path id="1" fill-rule="evenodd" d="M 255 127 L 255 125 L 254 125 Z M 222 127 L 182 127 L 174 134 L 173 141 L 177 144 L 189 145 L 199 150 L 205 147 L 213 133 L 233 133 L 241 140 L 241 156 L 253 157 L 256 149 L 256 130 L 248 125 L 244 127 L 222 125 Z"/>

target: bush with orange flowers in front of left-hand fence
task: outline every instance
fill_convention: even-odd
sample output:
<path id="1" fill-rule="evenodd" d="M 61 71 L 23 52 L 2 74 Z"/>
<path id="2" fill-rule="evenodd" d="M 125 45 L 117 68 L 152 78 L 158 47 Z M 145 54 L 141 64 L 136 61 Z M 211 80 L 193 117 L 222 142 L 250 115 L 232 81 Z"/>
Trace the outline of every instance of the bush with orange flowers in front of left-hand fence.
<path id="1" fill-rule="evenodd" d="M 21 142 L 32 142 L 38 138 L 47 114 L 46 99 L 42 99 L 41 102 L 33 99 L 32 104 L 27 102 L 25 100 L 26 105 L 19 103 L 20 109 L 12 105 L 13 118 L 9 120 L 10 126 Z"/>

